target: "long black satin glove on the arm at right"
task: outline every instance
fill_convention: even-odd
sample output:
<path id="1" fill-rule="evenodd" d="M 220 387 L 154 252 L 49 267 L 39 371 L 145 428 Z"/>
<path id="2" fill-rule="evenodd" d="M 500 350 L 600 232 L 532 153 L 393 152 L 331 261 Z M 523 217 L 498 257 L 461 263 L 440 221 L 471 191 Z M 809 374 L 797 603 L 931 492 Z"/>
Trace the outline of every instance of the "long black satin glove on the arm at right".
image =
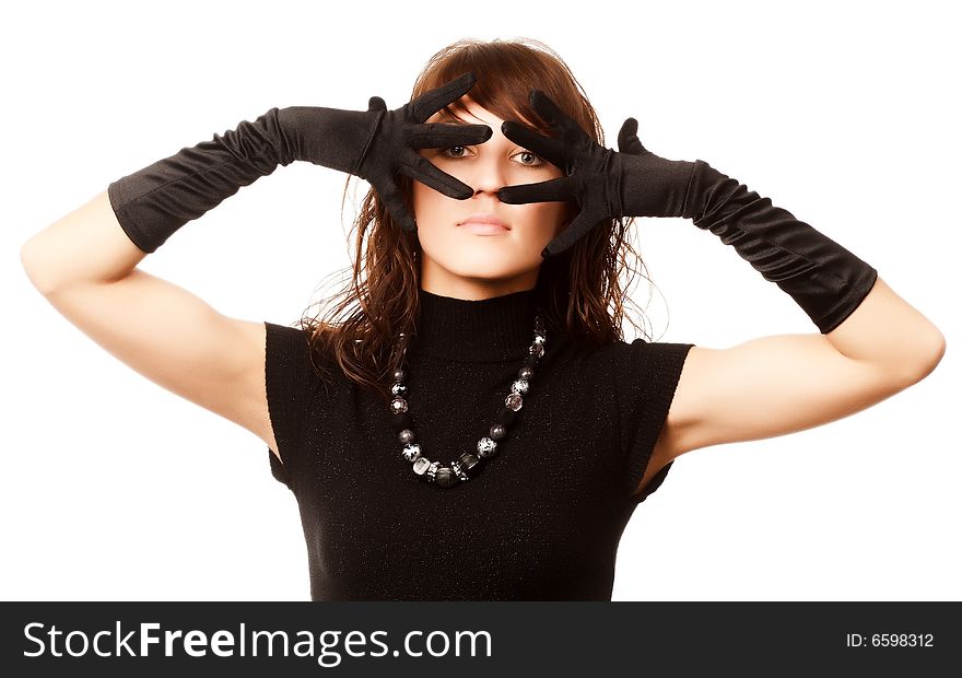
<path id="1" fill-rule="evenodd" d="M 735 247 L 762 277 L 776 283 L 805 311 L 822 334 L 835 329 L 871 291 L 878 271 L 769 198 L 748 190 L 708 163 L 671 161 L 647 151 L 637 121 L 621 127 L 621 152 L 605 149 L 568 118 L 543 92 L 530 101 L 556 138 L 506 120 L 504 136 L 543 156 L 567 176 L 504 187 L 508 203 L 575 200 L 578 217 L 551 241 L 541 256 L 564 252 L 606 219 L 683 217 Z"/>

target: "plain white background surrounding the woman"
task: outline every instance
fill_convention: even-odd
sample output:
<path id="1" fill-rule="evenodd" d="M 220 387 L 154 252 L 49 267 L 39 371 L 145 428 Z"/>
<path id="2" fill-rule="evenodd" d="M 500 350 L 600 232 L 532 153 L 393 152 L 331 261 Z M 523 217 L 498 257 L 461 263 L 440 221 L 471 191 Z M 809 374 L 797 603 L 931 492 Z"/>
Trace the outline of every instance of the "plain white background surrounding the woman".
<path id="1" fill-rule="evenodd" d="M 20 246 L 109 182 L 272 106 L 365 109 L 377 94 L 394 108 L 445 45 L 518 36 L 567 61 L 607 145 L 634 116 L 650 150 L 771 197 L 948 339 L 935 373 L 869 410 L 679 458 L 627 526 L 614 599 L 962 598 L 960 22 L 948 2 L 666 4 L 7 10 L 0 598 L 308 599 L 297 507 L 267 446 L 86 338 L 31 285 Z M 227 315 L 290 324 L 349 262 L 351 198 L 366 184 L 342 214 L 345 178 L 280 167 L 141 268 Z M 645 307 L 650 294 L 656 339 L 724 348 L 818 331 L 690 221 L 637 227 L 656 287 L 642 280 L 633 297 Z"/>

